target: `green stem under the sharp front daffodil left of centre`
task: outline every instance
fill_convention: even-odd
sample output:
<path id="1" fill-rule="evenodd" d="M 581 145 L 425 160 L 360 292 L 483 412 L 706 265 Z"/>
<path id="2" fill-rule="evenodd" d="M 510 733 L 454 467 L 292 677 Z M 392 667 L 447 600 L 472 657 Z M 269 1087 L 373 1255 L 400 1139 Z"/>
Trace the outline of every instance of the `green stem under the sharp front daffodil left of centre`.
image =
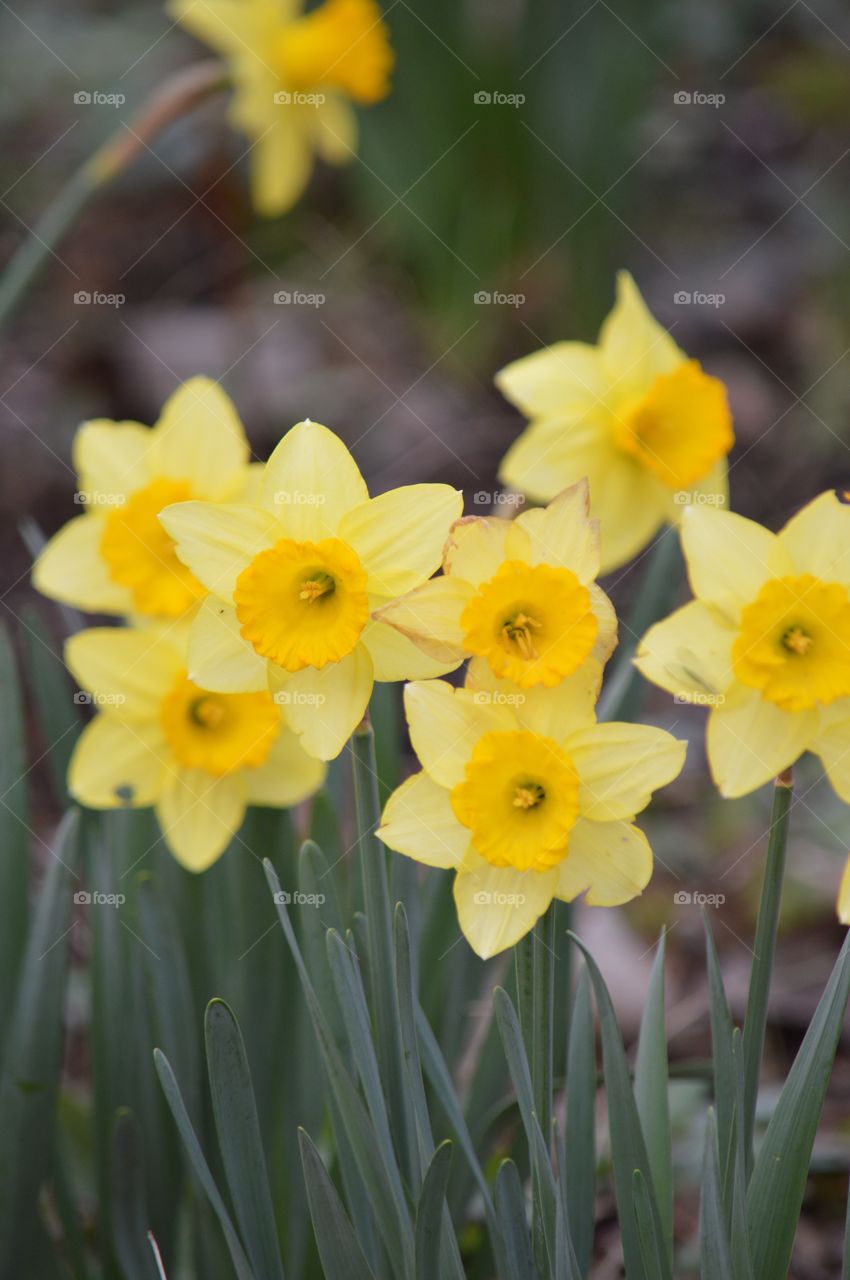
<path id="1" fill-rule="evenodd" d="M 389 1114 L 397 1135 L 399 1158 L 411 1185 L 420 1170 L 413 1165 L 413 1128 L 406 1088 L 405 1059 L 398 1019 L 393 918 L 389 905 L 387 854 L 375 838 L 380 819 L 375 735 L 369 721 L 351 739 L 355 782 L 357 852 L 364 886 L 366 938 L 369 947 L 369 991 L 375 1011 L 378 1062 L 387 1089 Z"/>

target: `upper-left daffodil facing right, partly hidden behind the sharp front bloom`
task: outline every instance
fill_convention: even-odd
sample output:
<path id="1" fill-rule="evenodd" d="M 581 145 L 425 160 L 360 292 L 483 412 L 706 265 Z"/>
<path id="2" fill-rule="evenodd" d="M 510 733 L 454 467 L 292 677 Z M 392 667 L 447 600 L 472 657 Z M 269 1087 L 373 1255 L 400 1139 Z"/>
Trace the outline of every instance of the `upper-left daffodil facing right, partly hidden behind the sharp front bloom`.
<path id="1" fill-rule="evenodd" d="M 73 457 L 84 515 L 47 543 L 33 584 L 90 613 L 186 614 L 206 591 L 174 554 L 160 511 L 186 498 L 242 498 L 253 483 L 245 430 L 221 388 L 189 379 L 154 428 L 83 422 Z"/>

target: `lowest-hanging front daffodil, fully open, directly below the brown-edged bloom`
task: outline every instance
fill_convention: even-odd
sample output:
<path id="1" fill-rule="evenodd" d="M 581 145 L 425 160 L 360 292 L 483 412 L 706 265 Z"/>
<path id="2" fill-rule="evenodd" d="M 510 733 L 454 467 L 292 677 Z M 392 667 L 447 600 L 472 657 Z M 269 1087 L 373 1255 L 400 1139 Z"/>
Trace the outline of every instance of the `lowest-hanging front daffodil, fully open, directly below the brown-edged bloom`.
<path id="1" fill-rule="evenodd" d="M 614 906 L 649 881 L 652 850 L 634 818 L 678 774 L 685 744 L 645 724 L 598 724 L 600 678 L 590 659 L 556 689 L 520 691 L 476 658 L 466 689 L 405 690 L 422 772 L 389 797 L 378 833 L 457 873 L 460 925 L 485 959 L 553 897 L 586 891 L 589 904 Z"/>

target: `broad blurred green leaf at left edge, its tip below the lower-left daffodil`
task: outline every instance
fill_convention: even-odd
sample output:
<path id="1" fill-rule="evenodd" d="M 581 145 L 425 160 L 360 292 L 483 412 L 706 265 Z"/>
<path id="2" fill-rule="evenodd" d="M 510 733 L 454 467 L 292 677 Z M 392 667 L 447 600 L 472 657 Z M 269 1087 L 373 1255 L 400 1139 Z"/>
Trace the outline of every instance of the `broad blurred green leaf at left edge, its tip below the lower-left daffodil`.
<path id="1" fill-rule="evenodd" d="M 27 938 L 0 1073 L 0 1275 L 33 1275 L 38 1189 L 50 1172 L 79 814 L 61 820 Z"/>

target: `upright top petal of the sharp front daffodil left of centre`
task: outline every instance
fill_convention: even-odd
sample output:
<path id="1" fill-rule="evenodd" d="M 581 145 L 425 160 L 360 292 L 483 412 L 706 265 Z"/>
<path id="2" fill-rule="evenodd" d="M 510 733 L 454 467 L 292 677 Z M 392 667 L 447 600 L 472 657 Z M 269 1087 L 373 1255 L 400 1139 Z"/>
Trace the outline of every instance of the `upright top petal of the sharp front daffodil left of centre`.
<path id="1" fill-rule="evenodd" d="M 262 506 L 297 541 L 332 538 L 346 512 L 367 498 L 351 453 L 319 422 L 293 426 L 266 463 Z"/>

